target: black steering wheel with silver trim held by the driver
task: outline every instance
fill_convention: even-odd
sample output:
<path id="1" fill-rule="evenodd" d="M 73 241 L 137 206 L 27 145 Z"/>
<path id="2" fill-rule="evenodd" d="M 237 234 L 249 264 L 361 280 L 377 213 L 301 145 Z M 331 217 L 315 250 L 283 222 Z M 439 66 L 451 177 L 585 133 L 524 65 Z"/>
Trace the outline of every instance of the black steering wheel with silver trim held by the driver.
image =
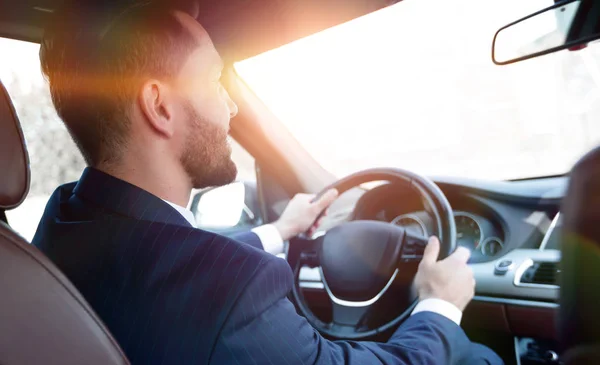
<path id="1" fill-rule="evenodd" d="M 391 168 L 365 170 L 328 186 L 317 198 L 332 188 L 341 195 L 372 181 L 408 183 L 421 195 L 434 218 L 440 239 L 440 259 L 454 251 L 456 225 L 448 199 L 435 183 L 413 172 Z M 421 261 L 427 242 L 427 237 L 414 235 L 394 224 L 367 220 L 343 223 L 324 234 L 299 239 L 288 251 L 288 262 L 294 271 L 292 294 L 299 310 L 315 329 L 336 338 L 364 339 L 393 328 L 412 312 L 417 303 L 414 296 L 407 297 L 404 307 L 399 308 L 400 314 L 388 323 L 365 330 L 361 322 L 397 277 L 404 278 L 403 286 L 412 285 L 415 264 Z M 320 267 L 332 304 L 330 323 L 317 318 L 306 303 L 299 287 L 303 266 Z M 405 280 L 406 275 L 409 280 Z"/>

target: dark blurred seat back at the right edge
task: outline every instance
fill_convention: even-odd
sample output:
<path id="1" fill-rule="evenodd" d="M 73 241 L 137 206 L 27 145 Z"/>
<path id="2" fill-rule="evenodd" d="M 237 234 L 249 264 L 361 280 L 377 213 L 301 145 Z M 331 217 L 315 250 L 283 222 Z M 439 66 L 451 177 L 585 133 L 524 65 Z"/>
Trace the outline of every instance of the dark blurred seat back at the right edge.
<path id="1" fill-rule="evenodd" d="M 600 345 L 600 148 L 584 156 L 571 171 L 561 214 L 562 347 L 596 347 Z"/>

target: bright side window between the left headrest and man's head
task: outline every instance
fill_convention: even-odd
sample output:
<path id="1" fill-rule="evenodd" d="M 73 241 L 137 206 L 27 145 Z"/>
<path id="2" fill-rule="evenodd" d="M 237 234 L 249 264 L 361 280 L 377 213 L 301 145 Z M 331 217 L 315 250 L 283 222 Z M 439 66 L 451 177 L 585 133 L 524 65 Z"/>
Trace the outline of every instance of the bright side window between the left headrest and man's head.
<path id="1" fill-rule="evenodd" d="M 31 163 L 31 187 L 23 204 L 6 212 L 8 222 L 31 241 L 50 195 L 75 181 L 85 167 L 83 157 L 56 115 L 41 73 L 39 44 L 0 38 L 0 80 L 21 121 Z"/>

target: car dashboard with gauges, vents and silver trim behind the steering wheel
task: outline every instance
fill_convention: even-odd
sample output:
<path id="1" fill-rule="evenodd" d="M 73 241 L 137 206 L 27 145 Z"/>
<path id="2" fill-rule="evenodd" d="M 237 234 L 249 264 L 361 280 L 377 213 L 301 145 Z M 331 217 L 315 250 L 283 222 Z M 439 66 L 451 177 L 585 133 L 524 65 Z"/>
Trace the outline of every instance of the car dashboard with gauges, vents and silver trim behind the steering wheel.
<path id="1" fill-rule="evenodd" d="M 559 209 L 568 179 L 434 181 L 453 208 L 457 244 L 472 251 L 476 288 L 464 327 L 516 336 L 515 344 L 517 338 L 552 339 L 559 307 Z M 427 203 L 409 185 L 354 189 L 334 204 L 321 227 L 325 231 L 347 221 L 378 220 L 424 236 L 437 234 Z M 298 279 L 313 309 L 329 318 L 321 271 L 303 267 Z"/>

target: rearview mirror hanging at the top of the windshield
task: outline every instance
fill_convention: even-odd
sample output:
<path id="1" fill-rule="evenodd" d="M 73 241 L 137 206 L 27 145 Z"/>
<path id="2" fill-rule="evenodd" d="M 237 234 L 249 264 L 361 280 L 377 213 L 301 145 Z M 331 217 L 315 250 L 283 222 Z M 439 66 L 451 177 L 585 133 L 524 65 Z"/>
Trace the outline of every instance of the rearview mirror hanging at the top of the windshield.
<path id="1" fill-rule="evenodd" d="M 583 34 L 573 27 L 581 3 L 561 1 L 500 28 L 492 45 L 494 63 L 506 65 L 592 40 L 589 36 L 581 38 Z"/>

